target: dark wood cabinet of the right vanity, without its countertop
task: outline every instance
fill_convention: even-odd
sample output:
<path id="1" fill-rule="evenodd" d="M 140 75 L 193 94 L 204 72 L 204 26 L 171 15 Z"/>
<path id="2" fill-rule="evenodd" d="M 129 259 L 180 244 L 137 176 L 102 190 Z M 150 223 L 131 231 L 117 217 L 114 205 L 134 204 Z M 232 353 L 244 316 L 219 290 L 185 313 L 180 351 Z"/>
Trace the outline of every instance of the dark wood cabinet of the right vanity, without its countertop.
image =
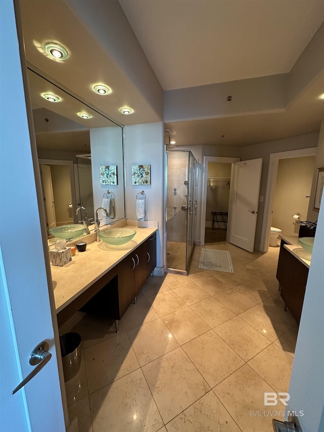
<path id="1" fill-rule="evenodd" d="M 303 308 L 308 267 L 292 255 L 281 240 L 276 278 L 281 285 L 280 296 L 299 323 Z"/>

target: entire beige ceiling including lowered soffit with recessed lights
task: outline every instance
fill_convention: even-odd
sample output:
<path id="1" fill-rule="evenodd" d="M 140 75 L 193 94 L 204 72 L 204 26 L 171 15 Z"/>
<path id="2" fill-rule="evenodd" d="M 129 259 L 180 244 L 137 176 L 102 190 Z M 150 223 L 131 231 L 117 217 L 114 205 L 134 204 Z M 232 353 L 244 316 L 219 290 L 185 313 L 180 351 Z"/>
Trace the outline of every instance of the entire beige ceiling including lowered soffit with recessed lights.
<path id="1" fill-rule="evenodd" d="M 20 4 L 28 63 L 121 125 L 167 119 L 165 127 L 177 146 L 246 146 L 319 131 L 324 115 L 323 101 L 318 99 L 324 93 L 322 52 L 318 53 L 321 73 L 303 84 L 292 103 L 277 109 L 242 109 L 234 115 L 224 105 L 217 115 L 197 112 L 179 121 L 170 118 L 166 104 L 163 114 L 163 95 L 176 98 L 178 89 L 202 94 L 204 87 L 200 92 L 199 86 L 226 83 L 231 89 L 237 88 L 235 83 L 244 87 L 243 80 L 289 76 L 324 21 L 322 0 L 21 0 Z M 48 19 L 51 14 L 55 20 Z M 43 55 L 42 44 L 52 40 L 71 53 L 64 64 Z M 124 58 L 118 50 L 125 51 Z M 94 94 L 91 86 L 96 82 L 109 85 L 112 94 Z M 232 96 L 235 107 L 238 97 Z M 249 104 L 250 95 L 245 97 L 241 106 Z M 135 112 L 120 114 L 124 105 Z"/>

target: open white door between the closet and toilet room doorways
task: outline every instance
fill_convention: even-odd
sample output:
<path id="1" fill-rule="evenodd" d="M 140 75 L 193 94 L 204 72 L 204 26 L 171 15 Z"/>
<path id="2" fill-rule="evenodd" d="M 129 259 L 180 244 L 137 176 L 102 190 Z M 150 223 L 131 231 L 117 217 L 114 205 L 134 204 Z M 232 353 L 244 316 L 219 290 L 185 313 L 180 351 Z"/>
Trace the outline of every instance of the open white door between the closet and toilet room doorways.
<path id="1" fill-rule="evenodd" d="M 254 250 L 262 159 L 232 164 L 227 241 Z"/>

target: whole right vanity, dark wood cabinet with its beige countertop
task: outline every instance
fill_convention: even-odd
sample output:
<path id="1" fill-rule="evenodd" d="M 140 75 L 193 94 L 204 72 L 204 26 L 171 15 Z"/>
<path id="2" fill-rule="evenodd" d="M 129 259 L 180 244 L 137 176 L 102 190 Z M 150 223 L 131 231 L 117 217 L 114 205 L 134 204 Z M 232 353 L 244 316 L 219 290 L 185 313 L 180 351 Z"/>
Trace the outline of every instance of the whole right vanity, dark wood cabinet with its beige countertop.
<path id="1" fill-rule="evenodd" d="M 276 278 L 280 296 L 299 323 L 303 308 L 310 254 L 298 244 L 295 235 L 279 235 L 281 239 Z M 309 259 L 307 259 L 309 258 Z"/>

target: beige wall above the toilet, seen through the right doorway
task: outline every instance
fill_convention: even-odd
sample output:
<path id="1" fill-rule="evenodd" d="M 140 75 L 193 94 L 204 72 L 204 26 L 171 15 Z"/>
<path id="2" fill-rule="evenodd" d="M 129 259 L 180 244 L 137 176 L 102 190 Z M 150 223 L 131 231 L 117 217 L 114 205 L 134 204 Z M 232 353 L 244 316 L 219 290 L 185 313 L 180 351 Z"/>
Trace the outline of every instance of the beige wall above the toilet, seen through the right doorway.
<path id="1" fill-rule="evenodd" d="M 307 220 L 315 156 L 280 159 L 274 191 L 271 226 L 287 235 L 297 234 L 300 225 L 293 219 L 296 212 Z"/>

